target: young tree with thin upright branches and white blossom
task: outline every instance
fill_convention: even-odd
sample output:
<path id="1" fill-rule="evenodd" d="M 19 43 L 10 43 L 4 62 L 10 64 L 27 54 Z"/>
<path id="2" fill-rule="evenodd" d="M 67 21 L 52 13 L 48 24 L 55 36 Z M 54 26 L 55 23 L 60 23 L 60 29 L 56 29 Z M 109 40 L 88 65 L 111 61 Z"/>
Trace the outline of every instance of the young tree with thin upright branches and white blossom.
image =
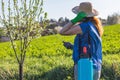
<path id="1" fill-rule="evenodd" d="M 27 49 L 32 41 L 31 33 L 37 35 L 37 26 L 43 14 L 43 0 L 1 0 L 0 20 L 7 29 L 8 36 L 19 64 L 19 80 L 23 80 L 23 65 Z M 6 13 L 8 12 L 8 13 Z M 44 15 L 43 21 L 46 19 Z M 38 21 L 38 22 L 37 22 Z M 39 28 L 40 32 L 42 28 Z M 35 36 L 34 35 L 34 36 Z M 33 36 L 33 35 L 32 35 Z M 18 41 L 15 41 L 15 39 Z"/>

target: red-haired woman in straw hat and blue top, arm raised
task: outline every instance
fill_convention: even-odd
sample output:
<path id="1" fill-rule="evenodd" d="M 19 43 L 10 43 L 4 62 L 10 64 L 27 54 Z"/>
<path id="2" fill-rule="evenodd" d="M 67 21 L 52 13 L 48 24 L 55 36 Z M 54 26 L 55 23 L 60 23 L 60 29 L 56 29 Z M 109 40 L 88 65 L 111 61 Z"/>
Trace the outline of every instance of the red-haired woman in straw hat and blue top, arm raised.
<path id="1" fill-rule="evenodd" d="M 60 31 L 61 35 L 75 35 L 73 46 L 73 61 L 74 61 L 74 77 L 77 80 L 77 62 L 79 60 L 79 47 L 88 42 L 88 53 L 91 55 L 93 61 L 93 79 L 99 80 L 102 65 L 102 44 L 101 37 L 103 34 L 103 27 L 100 20 L 96 17 L 98 11 L 93 9 L 90 2 L 82 2 L 79 6 L 72 9 L 77 16 L 67 23 Z M 89 37 L 86 37 L 86 34 Z"/>

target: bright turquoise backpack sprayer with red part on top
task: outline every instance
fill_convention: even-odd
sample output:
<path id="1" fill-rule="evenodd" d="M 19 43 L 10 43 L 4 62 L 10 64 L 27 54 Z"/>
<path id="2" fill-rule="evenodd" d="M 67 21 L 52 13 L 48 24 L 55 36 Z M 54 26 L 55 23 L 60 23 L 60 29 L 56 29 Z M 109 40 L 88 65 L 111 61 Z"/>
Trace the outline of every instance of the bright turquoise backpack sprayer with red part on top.
<path id="1" fill-rule="evenodd" d="M 78 80 L 93 80 L 93 62 L 85 46 L 78 61 Z"/>

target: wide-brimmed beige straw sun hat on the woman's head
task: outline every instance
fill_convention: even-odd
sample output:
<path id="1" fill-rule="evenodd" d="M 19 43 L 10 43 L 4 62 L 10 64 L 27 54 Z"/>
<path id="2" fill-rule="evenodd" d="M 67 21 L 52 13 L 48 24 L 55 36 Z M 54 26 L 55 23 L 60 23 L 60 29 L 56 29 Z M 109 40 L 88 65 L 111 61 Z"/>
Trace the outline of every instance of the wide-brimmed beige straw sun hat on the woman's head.
<path id="1" fill-rule="evenodd" d="M 99 12 L 93 9 L 92 3 L 82 2 L 79 6 L 72 8 L 72 12 L 78 14 L 79 12 L 85 12 L 87 17 L 98 16 Z"/>

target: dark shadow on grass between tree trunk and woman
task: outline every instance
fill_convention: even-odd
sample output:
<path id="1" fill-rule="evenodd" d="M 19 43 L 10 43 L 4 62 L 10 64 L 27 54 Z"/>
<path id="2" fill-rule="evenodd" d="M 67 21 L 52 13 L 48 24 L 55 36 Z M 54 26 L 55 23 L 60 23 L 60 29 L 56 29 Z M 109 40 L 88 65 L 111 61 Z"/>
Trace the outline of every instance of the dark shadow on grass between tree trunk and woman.
<path id="1" fill-rule="evenodd" d="M 73 80 L 73 67 L 58 66 L 41 75 L 41 80 Z"/>

